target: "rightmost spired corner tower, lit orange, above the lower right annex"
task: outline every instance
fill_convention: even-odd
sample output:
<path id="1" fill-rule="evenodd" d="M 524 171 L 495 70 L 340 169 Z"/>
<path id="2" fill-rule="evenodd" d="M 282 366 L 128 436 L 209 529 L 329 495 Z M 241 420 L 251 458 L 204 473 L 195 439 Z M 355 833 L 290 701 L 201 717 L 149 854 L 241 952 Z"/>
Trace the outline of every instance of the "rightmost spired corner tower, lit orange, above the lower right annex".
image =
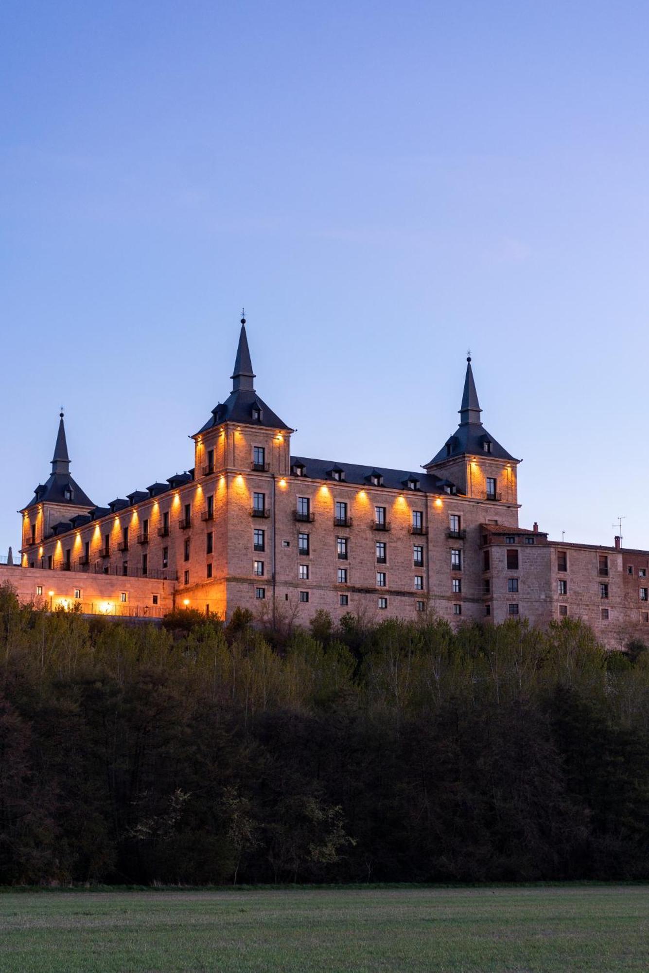
<path id="1" fill-rule="evenodd" d="M 469 355 L 466 358 L 460 425 L 423 468 L 442 480 L 449 480 L 472 499 L 518 506 L 516 469 L 520 460 L 487 432 L 481 415 Z"/>

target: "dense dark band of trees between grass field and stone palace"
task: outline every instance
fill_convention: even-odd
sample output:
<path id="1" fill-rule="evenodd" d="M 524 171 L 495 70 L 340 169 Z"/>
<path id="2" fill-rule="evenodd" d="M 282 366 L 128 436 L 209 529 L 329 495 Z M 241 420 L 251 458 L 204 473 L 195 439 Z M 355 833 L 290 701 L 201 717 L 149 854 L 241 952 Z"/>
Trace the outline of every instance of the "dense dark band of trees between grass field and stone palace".
<path id="1" fill-rule="evenodd" d="M 642 643 L 252 623 L 0 588 L 0 883 L 649 877 Z"/>

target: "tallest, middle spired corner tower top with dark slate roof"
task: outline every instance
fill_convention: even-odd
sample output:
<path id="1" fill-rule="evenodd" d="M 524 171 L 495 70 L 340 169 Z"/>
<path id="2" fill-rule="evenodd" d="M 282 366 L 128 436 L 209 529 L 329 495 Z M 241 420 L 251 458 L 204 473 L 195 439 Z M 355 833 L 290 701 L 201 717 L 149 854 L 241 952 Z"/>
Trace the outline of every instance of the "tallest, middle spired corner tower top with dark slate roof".
<path id="1" fill-rule="evenodd" d="M 256 393 L 245 317 L 231 378 L 229 396 L 193 436 L 196 479 L 226 470 L 287 476 L 293 430 Z"/>

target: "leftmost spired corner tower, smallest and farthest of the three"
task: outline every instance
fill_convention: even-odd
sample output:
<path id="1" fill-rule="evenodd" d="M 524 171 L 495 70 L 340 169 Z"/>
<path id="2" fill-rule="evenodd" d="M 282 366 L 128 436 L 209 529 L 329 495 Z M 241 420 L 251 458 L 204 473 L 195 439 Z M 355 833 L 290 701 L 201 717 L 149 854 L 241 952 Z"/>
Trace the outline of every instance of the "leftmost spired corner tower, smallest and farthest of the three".
<path id="1" fill-rule="evenodd" d="M 94 504 L 70 474 L 70 456 L 65 437 L 63 410 L 59 413 L 58 433 L 51 458 L 51 474 L 34 490 L 34 496 L 22 508 L 22 550 L 35 559 L 33 546 L 51 534 L 55 523 L 67 522 L 75 514 L 86 514 Z"/>

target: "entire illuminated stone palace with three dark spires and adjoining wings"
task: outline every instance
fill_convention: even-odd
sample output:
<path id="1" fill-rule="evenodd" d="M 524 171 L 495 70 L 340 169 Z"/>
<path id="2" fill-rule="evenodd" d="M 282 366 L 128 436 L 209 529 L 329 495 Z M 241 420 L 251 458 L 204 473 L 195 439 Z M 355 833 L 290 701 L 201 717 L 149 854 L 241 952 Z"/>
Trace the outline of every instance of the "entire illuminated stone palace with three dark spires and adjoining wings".
<path id="1" fill-rule="evenodd" d="M 193 467 L 102 507 L 70 474 L 61 413 L 51 476 L 20 511 L 20 565 L 0 580 L 106 614 L 576 616 L 609 647 L 649 638 L 649 552 L 519 526 L 519 460 L 482 424 L 470 357 L 460 424 L 423 472 L 291 455 L 294 430 L 255 378 L 242 319 L 232 390 L 191 437 Z"/>

